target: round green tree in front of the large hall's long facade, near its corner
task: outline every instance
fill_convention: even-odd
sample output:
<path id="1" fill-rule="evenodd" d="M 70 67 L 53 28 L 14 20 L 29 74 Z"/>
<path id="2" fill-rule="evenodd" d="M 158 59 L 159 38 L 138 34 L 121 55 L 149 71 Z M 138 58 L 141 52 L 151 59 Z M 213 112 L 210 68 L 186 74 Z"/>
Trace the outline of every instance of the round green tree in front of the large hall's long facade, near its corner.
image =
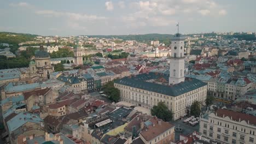
<path id="1" fill-rule="evenodd" d="M 150 111 L 152 116 L 161 118 L 163 121 L 172 120 L 172 112 L 168 110 L 168 107 L 164 102 L 159 102 L 157 106 L 154 105 Z"/>

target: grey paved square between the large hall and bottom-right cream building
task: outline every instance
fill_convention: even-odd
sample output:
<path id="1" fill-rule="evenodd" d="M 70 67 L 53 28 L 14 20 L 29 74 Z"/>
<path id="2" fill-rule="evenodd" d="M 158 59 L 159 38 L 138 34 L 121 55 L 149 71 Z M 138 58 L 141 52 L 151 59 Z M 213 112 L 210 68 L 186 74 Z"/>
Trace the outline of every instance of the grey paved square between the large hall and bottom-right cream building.
<path id="1" fill-rule="evenodd" d="M 199 131 L 199 124 L 196 124 L 195 127 L 192 127 L 189 124 L 183 123 L 183 120 L 187 119 L 187 118 L 188 117 L 184 117 L 182 120 L 171 122 L 176 127 L 179 126 L 179 127 L 183 128 L 183 131 L 181 131 L 181 132 L 175 131 L 174 141 L 178 141 L 179 140 L 179 135 L 181 135 L 181 134 L 186 136 L 188 134 L 193 133 L 194 131 Z"/>

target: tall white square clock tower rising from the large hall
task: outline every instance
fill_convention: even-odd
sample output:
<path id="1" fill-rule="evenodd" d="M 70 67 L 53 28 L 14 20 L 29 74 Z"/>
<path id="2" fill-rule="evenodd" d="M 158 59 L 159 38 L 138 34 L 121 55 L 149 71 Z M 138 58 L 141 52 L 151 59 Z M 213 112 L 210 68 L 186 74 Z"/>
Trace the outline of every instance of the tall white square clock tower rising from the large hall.
<path id="1" fill-rule="evenodd" d="M 174 35 L 171 39 L 171 62 L 170 62 L 170 77 L 169 85 L 175 85 L 183 82 L 184 68 L 185 68 L 185 57 L 184 57 L 184 40 L 180 33 Z"/>

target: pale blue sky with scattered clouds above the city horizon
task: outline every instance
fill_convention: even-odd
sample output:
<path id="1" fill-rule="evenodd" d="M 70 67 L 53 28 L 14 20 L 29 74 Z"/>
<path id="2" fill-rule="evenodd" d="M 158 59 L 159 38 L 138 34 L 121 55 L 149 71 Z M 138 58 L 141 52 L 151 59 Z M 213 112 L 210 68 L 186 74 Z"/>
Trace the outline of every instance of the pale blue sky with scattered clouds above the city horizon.
<path id="1" fill-rule="evenodd" d="M 38 35 L 256 32 L 255 0 L 0 0 L 0 31 Z"/>

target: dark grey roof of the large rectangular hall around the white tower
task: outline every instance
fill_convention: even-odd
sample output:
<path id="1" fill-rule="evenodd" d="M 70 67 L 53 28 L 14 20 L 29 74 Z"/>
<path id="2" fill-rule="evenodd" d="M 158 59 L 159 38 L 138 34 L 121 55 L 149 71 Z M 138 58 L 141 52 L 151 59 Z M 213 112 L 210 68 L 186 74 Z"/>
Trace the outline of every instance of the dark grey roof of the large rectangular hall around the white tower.
<path id="1" fill-rule="evenodd" d="M 157 79 L 160 76 L 163 76 L 164 78 L 168 77 L 167 74 L 162 74 L 162 75 L 154 74 L 154 73 L 140 74 L 135 77 L 124 77 L 122 79 L 115 81 L 115 83 L 130 86 L 130 87 L 145 89 L 151 92 L 166 94 L 173 97 L 176 97 L 178 95 L 193 91 L 194 89 L 207 85 L 207 83 L 197 79 L 193 79 L 193 78 L 185 80 L 184 82 L 181 82 L 172 86 L 160 85 L 158 83 L 152 83 L 152 82 L 146 81 L 150 79 Z"/>

